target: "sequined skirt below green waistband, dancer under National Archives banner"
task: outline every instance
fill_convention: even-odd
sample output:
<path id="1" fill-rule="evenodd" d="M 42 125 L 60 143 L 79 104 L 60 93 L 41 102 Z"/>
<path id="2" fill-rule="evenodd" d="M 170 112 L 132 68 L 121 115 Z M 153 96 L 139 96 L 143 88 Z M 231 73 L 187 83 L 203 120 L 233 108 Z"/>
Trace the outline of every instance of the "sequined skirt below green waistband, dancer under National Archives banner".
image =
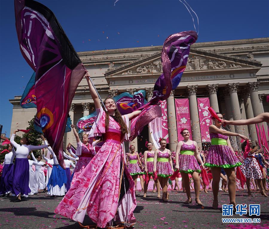
<path id="1" fill-rule="evenodd" d="M 179 172 L 201 172 L 201 168 L 194 155 L 180 154 L 178 156 Z"/>

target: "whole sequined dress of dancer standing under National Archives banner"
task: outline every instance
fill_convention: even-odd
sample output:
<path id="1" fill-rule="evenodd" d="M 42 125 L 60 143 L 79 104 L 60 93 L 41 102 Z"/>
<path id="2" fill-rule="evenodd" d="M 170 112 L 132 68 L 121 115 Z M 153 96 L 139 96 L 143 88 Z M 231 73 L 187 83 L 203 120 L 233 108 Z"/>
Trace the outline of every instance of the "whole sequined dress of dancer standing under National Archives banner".
<path id="1" fill-rule="evenodd" d="M 189 154 L 184 154 L 185 152 Z M 190 155 L 192 154 L 193 155 Z M 194 156 L 195 152 L 195 145 L 192 143 L 191 145 L 187 145 L 183 142 L 181 146 L 180 155 L 178 155 L 178 164 L 179 164 L 179 171 L 185 173 L 192 173 L 192 172 L 201 172 L 201 168 Z"/>

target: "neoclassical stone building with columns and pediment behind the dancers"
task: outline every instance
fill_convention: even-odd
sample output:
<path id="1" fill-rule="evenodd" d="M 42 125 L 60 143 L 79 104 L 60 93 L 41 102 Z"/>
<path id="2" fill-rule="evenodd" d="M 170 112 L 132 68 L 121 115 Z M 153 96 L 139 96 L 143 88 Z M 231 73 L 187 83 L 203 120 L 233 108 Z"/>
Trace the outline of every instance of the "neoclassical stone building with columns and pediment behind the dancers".
<path id="1" fill-rule="evenodd" d="M 78 54 L 102 98 L 145 89 L 146 99 L 150 100 L 155 81 L 162 72 L 161 50 L 162 46 L 151 46 Z M 209 97 L 210 105 L 216 112 L 224 114 L 225 119 L 237 120 L 269 112 L 265 98 L 268 94 L 269 38 L 195 43 L 191 46 L 181 83 L 167 99 L 169 148 L 175 150 L 177 143 L 175 98 L 189 97 L 192 136 L 201 146 L 197 97 Z M 13 104 L 10 133 L 17 126 L 26 128 L 28 120 L 36 113 L 36 109 L 22 109 L 19 106 L 20 98 L 15 96 L 10 99 Z M 87 82 L 83 79 L 69 111 L 73 123 L 92 112 L 92 105 Z M 267 129 L 267 124 L 263 125 Z M 228 128 L 257 140 L 255 125 Z M 132 142 L 139 152 L 145 150 L 146 139 L 151 139 L 147 128 L 144 128 L 141 136 Z M 65 134 L 64 142 L 75 145 L 72 132 Z M 232 142 L 237 148 L 238 139 L 232 138 Z"/>

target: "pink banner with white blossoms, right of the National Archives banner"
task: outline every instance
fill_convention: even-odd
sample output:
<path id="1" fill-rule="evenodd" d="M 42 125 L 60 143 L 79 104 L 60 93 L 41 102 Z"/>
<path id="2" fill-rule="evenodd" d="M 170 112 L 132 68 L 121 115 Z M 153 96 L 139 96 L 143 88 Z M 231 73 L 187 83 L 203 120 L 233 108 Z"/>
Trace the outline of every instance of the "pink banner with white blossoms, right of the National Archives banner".
<path id="1" fill-rule="evenodd" d="M 197 104 L 202 142 L 210 142 L 209 126 L 212 124 L 212 119 L 208 111 L 210 107 L 209 98 L 197 98 Z"/>

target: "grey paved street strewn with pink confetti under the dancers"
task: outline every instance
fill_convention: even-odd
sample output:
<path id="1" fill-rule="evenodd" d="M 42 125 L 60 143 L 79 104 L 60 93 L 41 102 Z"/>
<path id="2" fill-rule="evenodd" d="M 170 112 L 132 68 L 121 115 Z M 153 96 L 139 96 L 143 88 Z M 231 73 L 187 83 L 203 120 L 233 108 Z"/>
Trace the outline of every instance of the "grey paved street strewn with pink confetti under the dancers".
<path id="1" fill-rule="evenodd" d="M 142 192 L 137 192 L 137 207 L 135 217 L 137 224 L 135 228 L 246 228 L 250 224 L 239 226 L 228 226 L 222 224 L 221 209 L 213 210 L 212 192 L 201 193 L 201 201 L 204 209 L 195 203 L 183 204 L 186 200 L 186 194 L 178 191 L 170 192 L 169 203 L 161 202 L 156 198 L 156 194 L 149 192 L 147 198 L 142 197 Z M 255 196 L 248 197 L 246 191 L 237 192 L 238 204 L 261 204 L 260 216 L 238 216 L 233 215 L 231 218 L 260 218 L 261 223 L 251 228 L 269 228 L 269 198 L 255 193 Z M 54 209 L 62 199 L 61 197 L 50 198 L 44 193 L 36 196 L 30 196 L 22 202 L 13 203 L 14 197 L 0 198 L 0 227 L 1 228 L 80 228 L 77 222 L 55 215 Z M 192 199 L 194 201 L 194 192 Z M 220 192 L 219 206 L 228 204 L 228 193 Z M 84 225 L 92 224 L 85 217 Z M 253 224 L 251 224 L 254 226 Z"/>

